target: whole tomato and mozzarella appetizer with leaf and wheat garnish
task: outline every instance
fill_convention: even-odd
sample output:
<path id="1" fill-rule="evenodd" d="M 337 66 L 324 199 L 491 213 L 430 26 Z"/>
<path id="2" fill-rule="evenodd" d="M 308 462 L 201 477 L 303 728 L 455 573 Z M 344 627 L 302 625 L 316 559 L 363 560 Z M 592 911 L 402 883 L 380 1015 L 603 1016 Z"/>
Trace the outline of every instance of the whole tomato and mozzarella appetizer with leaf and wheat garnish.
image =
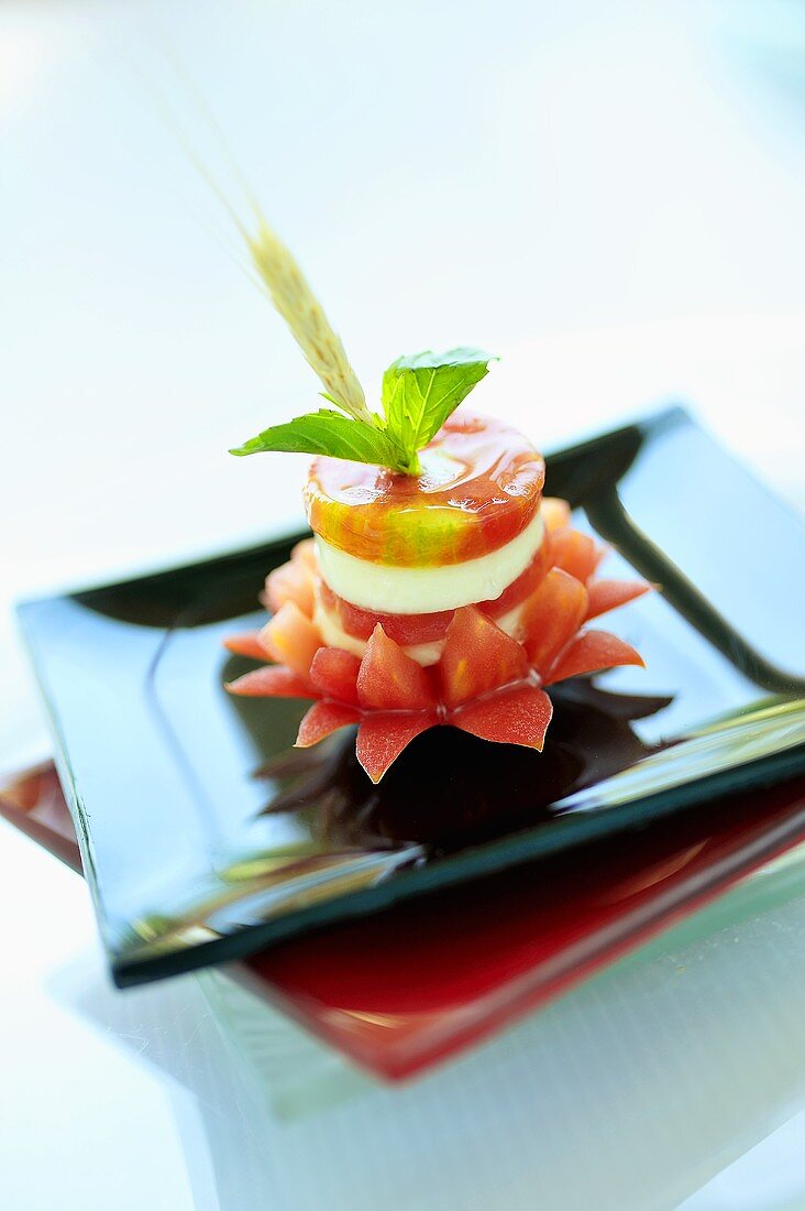
<path id="1" fill-rule="evenodd" d="M 522 434 L 456 412 L 488 354 L 399 357 L 372 412 L 288 249 L 265 223 L 249 246 L 334 407 L 232 450 L 315 455 L 304 489 L 314 538 L 269 575 L 265 626 L 228 641 L 265 661 L 228 689 L 312 699 L 303 747 L 357 724 L 374 782 L 437 725 L 541 750 L 546 687 L 643 664 L 587 624 L 649 586 L 597 575 L 604 549 L 571 527 L 565 501 L 542 497 L 545 463 Z"/>

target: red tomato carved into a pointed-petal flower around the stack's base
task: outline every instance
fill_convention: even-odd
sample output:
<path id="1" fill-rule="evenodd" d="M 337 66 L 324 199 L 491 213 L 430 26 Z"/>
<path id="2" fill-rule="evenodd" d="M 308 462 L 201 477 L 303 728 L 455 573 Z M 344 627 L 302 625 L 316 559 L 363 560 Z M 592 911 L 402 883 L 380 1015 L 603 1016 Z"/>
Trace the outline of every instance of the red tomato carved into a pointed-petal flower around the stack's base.
<path id="1" fill-rule="evenodd" d="M 547 570 L 523 603 L 514 637 L 481 608 L 465 606 L 453 614 L 441 655 L 427 667 L 381 624 L 361 656 L 327 647 L 315 621 L 317 567 L 307 539 L 268 578 L 264 602 L 274 616 L 261 631 L 226 641 L 230 652 L 275 662 L 226 689 L 249 698 L 314 699 L 299 725 L 299 747 L 357 724 L 357 757 L 373 782 L 415 736 L 438 725 L 541 751 L 553 712 L 546 685 L 643 665 L 628 643 L 586 624 L 650 587 L 597 578 L 604 549 L 568 524 L 563 501 L 546 500 L 542 507 Z"/>

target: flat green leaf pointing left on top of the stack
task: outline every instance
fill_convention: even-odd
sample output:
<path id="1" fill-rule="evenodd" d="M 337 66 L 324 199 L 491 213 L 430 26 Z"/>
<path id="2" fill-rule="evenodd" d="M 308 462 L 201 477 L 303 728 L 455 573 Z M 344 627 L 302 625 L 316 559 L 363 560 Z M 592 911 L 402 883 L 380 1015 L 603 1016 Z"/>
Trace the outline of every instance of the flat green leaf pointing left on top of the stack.
<path id="1" fill-rule="evenodd" d="M 330 408 L 321 408 L 284 425 L 264 429 L 257 437 L 229 453 L 242 457 L 266 450 L 328 454 L 330 458 L 346 458 L 355 463 L 399 466 L 399 452 L 384 430 L 362 420 L 352 420 Z"/>

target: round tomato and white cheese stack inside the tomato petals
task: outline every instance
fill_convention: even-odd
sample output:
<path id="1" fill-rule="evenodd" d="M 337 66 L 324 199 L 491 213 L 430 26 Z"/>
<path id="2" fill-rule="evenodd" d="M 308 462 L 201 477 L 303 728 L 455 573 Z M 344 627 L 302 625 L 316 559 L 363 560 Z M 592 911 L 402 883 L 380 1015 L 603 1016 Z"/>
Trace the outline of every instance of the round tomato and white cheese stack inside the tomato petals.
<path id="1" fill-rule="evenodd" d="M 452 417 L 419 477 L 317 459 L 305 498 L 328 644 L 362 656 L 375 626 L 420 665 L 438 661 L 453 614 L 477 606 L 510 635 L 547 572 L 545 464 L 517 432 Z"/>

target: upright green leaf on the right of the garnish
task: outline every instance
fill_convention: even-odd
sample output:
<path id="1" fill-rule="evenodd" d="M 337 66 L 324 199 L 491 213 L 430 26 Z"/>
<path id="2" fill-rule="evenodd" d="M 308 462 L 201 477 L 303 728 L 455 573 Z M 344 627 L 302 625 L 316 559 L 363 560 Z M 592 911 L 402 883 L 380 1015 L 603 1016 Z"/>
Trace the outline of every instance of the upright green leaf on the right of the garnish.
<path id="1" fill-rule="evenodd" d="M 430 349 L 398 357 L 383 375 L 389 436 L 401 447 L 404 470 L 416 471 L 416 450 L 427 446 L 473 386 L 489 373 L 490 354 L 479 349 Z"/>

